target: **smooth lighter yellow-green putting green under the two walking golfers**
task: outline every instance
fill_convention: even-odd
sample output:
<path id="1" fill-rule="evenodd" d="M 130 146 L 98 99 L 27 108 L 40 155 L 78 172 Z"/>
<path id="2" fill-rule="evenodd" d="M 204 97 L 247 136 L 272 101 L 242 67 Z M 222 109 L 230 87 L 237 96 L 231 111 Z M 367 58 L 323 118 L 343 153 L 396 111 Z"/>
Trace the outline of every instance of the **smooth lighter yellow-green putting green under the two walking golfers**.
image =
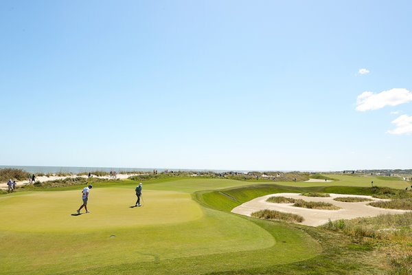
<path id="1" fill-rule="evenodd" d="M 76 215 L 81 192 L 32 192 L 0 197 L 0 230 L 19 232 L 76 232 L 181 223 L 200 219 L 201 208 L 190 195 L 172 191 L 144 192 L 144 205 L 135 206 L 136 196 L 128 188 L 95 188 L 90 192 L 89 214 Z M 30 224 L 27 223 L 30 221 Z"/>

